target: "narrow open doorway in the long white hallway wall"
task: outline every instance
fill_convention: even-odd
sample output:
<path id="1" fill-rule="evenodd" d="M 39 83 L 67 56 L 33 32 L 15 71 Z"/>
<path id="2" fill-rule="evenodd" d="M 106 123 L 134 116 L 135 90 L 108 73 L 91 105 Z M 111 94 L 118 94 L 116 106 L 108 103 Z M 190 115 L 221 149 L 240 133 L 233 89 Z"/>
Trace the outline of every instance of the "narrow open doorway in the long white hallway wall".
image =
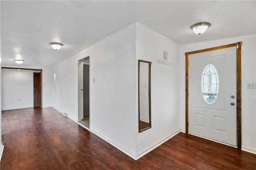
<path id="1" fill-rule="evenodd" d="M 90 129 L 90 56 L 78 61 L 78 122 Z"/>

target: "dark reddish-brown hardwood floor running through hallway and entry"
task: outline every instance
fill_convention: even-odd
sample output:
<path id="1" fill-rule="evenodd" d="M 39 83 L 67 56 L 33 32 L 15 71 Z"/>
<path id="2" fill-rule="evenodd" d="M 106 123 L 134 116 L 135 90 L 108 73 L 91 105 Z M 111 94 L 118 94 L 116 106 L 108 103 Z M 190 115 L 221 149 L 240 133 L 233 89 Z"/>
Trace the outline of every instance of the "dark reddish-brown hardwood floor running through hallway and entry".
<path id="1" fill-rule="evenodd" d="M 256 170 L 256 154 L 179 133 L 134 160 L 53 108 L 2 111 L 1 170 Z"/>

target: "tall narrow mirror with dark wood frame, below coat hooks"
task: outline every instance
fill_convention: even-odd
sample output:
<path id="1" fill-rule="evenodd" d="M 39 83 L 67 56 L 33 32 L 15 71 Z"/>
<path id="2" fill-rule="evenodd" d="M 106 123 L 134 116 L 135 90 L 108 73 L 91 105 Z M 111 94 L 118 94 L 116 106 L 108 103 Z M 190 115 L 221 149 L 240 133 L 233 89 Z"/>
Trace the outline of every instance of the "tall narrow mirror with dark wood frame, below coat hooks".
<path id="1" fill-rule="evenodd" d="M 139 132 L 151 127 L 151 62 L 138 60 Z"/>

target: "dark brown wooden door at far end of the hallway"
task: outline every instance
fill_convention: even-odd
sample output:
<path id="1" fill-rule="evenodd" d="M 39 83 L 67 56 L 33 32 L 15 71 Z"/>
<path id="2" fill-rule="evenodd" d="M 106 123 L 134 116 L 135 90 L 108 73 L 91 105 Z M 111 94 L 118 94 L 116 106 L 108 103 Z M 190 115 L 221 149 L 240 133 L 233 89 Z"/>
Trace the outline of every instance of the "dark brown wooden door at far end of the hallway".
<path id="1" fill-rule="evenodd" d="M 41 73 L 34 72 L 34 107 L 41 107 Z"/>

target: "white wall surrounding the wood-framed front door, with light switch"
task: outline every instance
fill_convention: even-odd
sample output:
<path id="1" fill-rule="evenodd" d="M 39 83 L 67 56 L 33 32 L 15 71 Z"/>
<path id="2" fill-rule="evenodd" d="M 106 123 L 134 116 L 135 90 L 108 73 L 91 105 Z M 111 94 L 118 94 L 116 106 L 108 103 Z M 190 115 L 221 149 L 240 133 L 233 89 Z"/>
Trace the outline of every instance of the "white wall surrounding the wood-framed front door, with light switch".
<path id="1" fill-rule="evenodd" d="M 256 35 L 180 45 L 180 125 L 185 131 L 185 52 L 242 41 L 242 149 L 256 153 L 256 90 L 246 89 L 246 82 L 256 82 Z"/>

